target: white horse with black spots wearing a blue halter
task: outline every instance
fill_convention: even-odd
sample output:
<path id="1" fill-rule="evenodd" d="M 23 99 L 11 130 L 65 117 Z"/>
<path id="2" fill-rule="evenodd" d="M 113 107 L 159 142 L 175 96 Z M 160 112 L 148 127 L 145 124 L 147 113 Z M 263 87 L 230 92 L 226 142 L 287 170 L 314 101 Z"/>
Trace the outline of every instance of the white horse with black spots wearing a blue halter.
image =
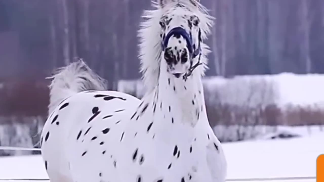
<path id="1" fill-rule="evenodd" d="M 83 61 L 52 78 L 41 134 L 51 182 L 224 182 L 226 159 L 209 125 L 203 43 L 213 18 L 198 0 L 159 0 L 139 30 L 146 86 L 139 100 L 104 91 Z"/>

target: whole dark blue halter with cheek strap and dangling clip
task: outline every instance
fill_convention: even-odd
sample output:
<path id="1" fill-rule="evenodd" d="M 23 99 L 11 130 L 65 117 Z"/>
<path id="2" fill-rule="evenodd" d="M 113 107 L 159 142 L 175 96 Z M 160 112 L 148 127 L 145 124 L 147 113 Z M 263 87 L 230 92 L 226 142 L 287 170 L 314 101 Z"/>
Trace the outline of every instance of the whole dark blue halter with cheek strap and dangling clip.
<path id="1" fill-rule="evenodd" d="M 199 37 L 199 42 L 198 42 L 198 47 L 196 50 L 193 50 L 193 45 L 192 45 L 192 37 L 191 34 L 189 35 L 186 30 L 184 28 L 181 27 L 176 27 L 176 28 L 172 28 L 169 33 L 167 34 L 167 36 L 165 37 L 165 39 L 162 41 L 162 50 L 165 51 L 166 47 L 168 46 L 168 42 L 169 39 L 171 38 L 171 36 L 173 35 L 181 35 L 187 42 L 187 49 L 189 51 L 190 54 L 190 68 L 189 71 L 183 75 L 183 79 L 187 80 L 187 77 L 190 76 L 192 74 L 192 71 L 199 65 L 201 65 L 202 63 L 200 63 L 200 56 L 201 56 L 201 47 L 200 47 L 200 37 Z M 198 63 L 196 63 L 195 65 L 192 65 L 192 59 L 194 59 L 195 57 L 197 57 L 199 55 L 199 60 Z"/>

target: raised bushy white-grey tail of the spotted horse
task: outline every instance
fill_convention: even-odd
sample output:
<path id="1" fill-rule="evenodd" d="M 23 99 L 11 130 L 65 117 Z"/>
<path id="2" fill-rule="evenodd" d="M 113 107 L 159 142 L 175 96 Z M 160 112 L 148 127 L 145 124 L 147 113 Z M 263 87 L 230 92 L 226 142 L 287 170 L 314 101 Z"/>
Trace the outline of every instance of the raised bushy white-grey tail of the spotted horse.
<path id="1" fill-rule="evenodd" d="M 56 69 L 51 77 L 49 114 L 67 97 L 86 90 L 107 90 L 107 81 L 82 60 Z"/>

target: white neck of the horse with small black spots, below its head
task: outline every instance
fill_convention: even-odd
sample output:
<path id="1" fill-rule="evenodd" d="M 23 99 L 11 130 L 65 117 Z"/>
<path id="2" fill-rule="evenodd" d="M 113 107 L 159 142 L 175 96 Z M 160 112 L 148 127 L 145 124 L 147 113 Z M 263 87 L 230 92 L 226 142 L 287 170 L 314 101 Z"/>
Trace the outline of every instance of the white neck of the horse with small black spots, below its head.
<path id="1" fill-rule="evenodd" d="M 197 123 L 208 122 L 201 75 L 199 69 L 194 70 L 184 81 L 169 75 L 164 62 L 155 89 L 145 94 L 132 118 L 149 126 L 147 132 L 153 133 L 155 140 L 190 143 Z"/>

